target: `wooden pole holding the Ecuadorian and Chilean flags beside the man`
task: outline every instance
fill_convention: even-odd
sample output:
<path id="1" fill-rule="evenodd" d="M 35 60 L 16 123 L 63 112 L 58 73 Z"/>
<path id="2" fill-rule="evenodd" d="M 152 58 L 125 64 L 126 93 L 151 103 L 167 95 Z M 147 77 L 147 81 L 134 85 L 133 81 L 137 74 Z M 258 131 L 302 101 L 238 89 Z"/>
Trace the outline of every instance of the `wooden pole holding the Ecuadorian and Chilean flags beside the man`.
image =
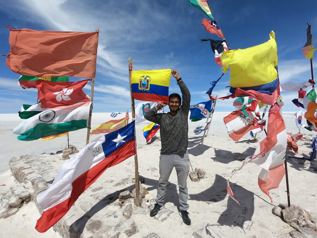
<path id="1" fill-rule="evenodd" d="M 130 94 L 131 94 L 131 109 L 132 109 L 132 120 L 134 118 L 135 120 L 135 108 L 134 108 L 134 98 L 132 95 L 132 87 L 131 87 L 131 75 L 132 75 L 132 58 L 128 58 L 128 64 L 129 64 L 129 84 L 130 84 Z M 135 127 L 134 127 L 134 133 L 135 133 Z M 136 140 L 135 140 L 136 143 Z M 135 150 L 136 150 L 136 144 L 135 144 Z M 135 168 L 135 199 L 136 199 L 136 205 L 140 207 L 140 188 L 139 188 L 139 168 L 138 168 L 138 153 L 134 156 L 134 168 Z"/>

